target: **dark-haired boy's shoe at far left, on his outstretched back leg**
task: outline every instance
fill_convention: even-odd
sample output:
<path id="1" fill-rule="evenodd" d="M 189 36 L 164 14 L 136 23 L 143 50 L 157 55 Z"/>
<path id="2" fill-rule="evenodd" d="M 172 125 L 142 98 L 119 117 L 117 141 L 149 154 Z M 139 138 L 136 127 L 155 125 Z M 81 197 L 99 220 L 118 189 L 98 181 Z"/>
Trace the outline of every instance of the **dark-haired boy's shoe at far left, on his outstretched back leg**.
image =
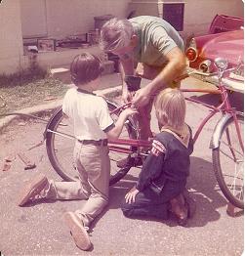
<path id="1" fill-rule="evenodd" d="M 45 188 L 48 179 L 43 174 L 36 176 L 20 191 L 19 206 L 23 206 L 28 201 L 32 201 Z"/>

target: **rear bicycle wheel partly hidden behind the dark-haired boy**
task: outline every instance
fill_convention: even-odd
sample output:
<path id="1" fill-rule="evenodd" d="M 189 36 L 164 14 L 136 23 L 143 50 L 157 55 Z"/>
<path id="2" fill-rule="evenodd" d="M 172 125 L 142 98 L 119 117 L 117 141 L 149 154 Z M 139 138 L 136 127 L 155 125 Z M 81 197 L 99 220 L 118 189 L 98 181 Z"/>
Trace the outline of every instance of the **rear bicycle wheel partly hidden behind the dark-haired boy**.
<path id="1" fill-rule="evenodd" d="M 108 104 L 109 111 L 113 111 L 116 107 L 110 103 Z M 117 120 L 118 115 L 111 113 L 114 121 Z M 78 172 L 73 163 L 73 149 L 75 145 L 75 138 L 73 135 L 73 124 L 69 118 L 64 117 L 62 110 L 59 109 L 51 117 L 51 122 L 48 124 L 46 134 L 46 149 L 49 160 L 55 171 L 65 181 L 75 181 L 78 179 Z M 132 128 L 131 121 L 127 120 L 120 138 L 135 139 L 136 133 Z M 126 149 L 133 149 L 125 146 Z M 117 152 L 109 150 L 110 158 L 110 181 L 109 184 L 113 185 L 122 179 L 130 170 L 131 166 L 126 168 L 118 168 L 117 161 L 128 157 L 128 153 Z"/>

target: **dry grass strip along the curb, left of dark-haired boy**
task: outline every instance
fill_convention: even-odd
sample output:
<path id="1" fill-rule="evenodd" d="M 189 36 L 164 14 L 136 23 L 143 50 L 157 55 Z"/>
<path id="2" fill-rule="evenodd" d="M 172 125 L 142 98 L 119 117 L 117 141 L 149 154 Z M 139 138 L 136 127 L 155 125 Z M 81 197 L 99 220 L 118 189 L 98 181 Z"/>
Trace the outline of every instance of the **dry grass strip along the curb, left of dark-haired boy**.
<path id="1" fill-rule="evenodd" d="M 59 100 L 64 96 L 66 90 L 66 85 L 52 77 L 32 76 L 31 79 L 25 77 L 19 80 L 17 76 L 9 79 L 6 77 L 3 79 L 3 76 L 1 76 L 0 114 Z"/>

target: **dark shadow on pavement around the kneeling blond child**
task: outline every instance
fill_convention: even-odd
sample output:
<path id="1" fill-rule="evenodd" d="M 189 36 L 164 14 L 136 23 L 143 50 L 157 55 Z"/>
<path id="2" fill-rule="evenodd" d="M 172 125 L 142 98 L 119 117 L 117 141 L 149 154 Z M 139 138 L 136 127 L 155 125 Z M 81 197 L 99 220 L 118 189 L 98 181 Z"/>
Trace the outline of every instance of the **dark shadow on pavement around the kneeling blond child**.
<path id="1" fill-rule="evenodd" d="M 187 181 L 187 189 L 196 202 L 196 213 L 188 221 L 186 228 L 204 227 L 209 222 L 218 221 L 221 214 L 218 209 L 227 202 L 225 196 L 221 194 L 217 184 L 213 165 L 199 157 L 190 157 L 191 167 L 190 176 Z M 134 186 L 137 178 L 128 174 L 125 180 L 118 182 L 110 188 L 110 202 L 108 207 L 102 212 L 102 215 L 110 209 L 120 209 L 121 202 L 125 194 Z M 157 220 L 155 218 L 137 218 L 140 220 L 163 222 L 169 227 L 178 226 L 174 217 L 168 221 Z M 97 221 L 94 222 L 94 227 Z"/>

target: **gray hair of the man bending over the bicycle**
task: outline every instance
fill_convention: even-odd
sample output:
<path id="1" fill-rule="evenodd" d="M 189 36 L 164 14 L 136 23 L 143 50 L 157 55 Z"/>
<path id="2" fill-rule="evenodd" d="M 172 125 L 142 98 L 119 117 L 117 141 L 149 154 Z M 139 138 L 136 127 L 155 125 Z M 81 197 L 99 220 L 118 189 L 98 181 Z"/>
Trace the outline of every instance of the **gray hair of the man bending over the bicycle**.
<path id="1" fill-rule="evenodd" d="M 130 21 L 113 18 L 102 26 L 100 46 L 105 52 L 128 46 L 133 33 Z"/>

